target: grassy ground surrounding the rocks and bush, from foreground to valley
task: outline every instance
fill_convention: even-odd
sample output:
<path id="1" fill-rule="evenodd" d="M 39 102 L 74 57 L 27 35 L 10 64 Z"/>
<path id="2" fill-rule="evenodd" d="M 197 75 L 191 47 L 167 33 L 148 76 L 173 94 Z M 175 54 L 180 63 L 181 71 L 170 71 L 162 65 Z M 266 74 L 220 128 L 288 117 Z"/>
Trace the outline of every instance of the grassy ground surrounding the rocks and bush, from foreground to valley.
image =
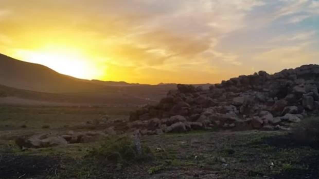
<path id="1" fill-rule="evenodd" d="M 315 179 L 319 150 L 295 143 L 287 132 L 194 131 L 144 136 L 152 159 L 107 162 L 91 151 L 106 141 L 62 147 L 19 149 L 21 135 L 77 130 L 108 114 L 126 118 L 134 107 L 0 107 L 0 178 L 33 179 Z M 49 126 L 49 128 L 43 128 Z M 81 129 L 83 130 L 83 129 Z M 91 129 L 94 130 L 94 129 Z M 108 145 L 108 144 L 107 144 Z"/>

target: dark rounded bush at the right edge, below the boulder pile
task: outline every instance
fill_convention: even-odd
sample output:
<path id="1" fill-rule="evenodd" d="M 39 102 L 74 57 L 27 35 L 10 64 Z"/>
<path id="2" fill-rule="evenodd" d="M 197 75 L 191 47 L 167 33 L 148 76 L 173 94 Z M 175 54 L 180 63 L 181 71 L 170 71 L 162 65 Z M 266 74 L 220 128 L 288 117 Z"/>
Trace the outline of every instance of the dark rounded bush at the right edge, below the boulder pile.
<path id="1" fill-rule="evenodd" d="M 309 118 L 300 122 L 291 134 L 298 143 L 319 146 L 319 118 Z"/>

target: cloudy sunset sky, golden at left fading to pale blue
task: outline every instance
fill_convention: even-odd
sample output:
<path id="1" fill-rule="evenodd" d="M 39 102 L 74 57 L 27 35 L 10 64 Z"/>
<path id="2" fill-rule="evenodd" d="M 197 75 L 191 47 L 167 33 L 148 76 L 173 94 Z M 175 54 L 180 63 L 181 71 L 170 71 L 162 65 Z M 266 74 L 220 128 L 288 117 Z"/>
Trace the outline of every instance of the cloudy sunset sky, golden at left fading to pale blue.
<path id="1" fill-rule="evenodd" d="M 319 63 L 318 0 L 0 0 L 0 53 L 84 79 L 219 83 Z"/>

